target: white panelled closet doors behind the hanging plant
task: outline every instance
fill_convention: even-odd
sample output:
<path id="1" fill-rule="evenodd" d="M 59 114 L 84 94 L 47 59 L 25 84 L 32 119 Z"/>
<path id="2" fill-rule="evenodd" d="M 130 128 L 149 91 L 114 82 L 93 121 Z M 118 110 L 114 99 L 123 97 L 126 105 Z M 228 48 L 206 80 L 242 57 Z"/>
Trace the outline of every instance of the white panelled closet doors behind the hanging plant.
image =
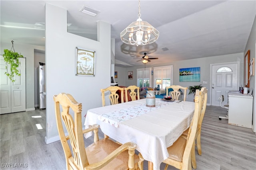
<path id="1" fill-rule="evenodd" d="M 26 111 L 26 59 L 20 58 L 18 70 L 21 76 L 14 76 L 15 82 L 4 74 L 6 63 L 0 58 L 0 114 Z"/>

